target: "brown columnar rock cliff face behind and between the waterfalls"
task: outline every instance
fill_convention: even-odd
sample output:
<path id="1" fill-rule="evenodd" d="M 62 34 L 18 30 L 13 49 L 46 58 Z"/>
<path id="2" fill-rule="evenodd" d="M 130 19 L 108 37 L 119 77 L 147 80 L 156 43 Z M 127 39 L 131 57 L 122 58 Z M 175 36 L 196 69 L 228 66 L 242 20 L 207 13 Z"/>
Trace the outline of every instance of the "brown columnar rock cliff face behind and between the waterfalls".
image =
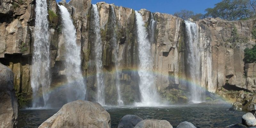
<path id="1" fill-rule="evenodd" d="M 24 2 L 23 2 L 24 1 Z M 56 1 L 48 0 L 49 22 L 51 33 L 51 87 L 60 87 L 66 82 L 63 56 L 65 45 L 61 34 L 61 15 Z M 87 100 L 95 101 L 97 82 L 95 68 L 94 26 L 90 0 L 71 0 L 68 8 L 76 27 L 77 44 L 82 46 L 82 71 L 86 78 Z M 0 62 L 14 72 L 14 88 L 16 92 L 30 97 L 31 56 L 33 53 L 33 36 L 35 26 L 36 0 L 1 1 L 0 4 Z M 112 4 L 98 3 L 100 14 L 100 31 L 103 45 L 103 71 L 107 104 L 116 104 L 117 91 L 115 85 L 114 47 L 111 42 L 113 32 L 118 41 L 118 69 L 120 75 L 121 94 L 124 102 L 130 104 L 140 100 L 138 43 L 136 33 L 135 12 L 132 9 Z M 110 16 L 111 6 L 116 15 L 116 30 Z M 51 12 L 51 13 L 50 13 Z M 53 15 L 52 14 L 56 14 Z M 186 49 L 186 31 L 183 20 L 163 13 L 139 11 L 148 29 L 151 44 L 151 56 L 154 58 L 156 87 L 164 100 L 184 102 L 188 91 L 188 61 Z M 156 20 L 150 30 L 150 19 Z M 221 87 L 228 90 L 247 90 L 254 92 L 254 76 L 245 76 L 244 49 L 252 48 L 255 40 L 251 38 L 255 19 L 245 21 L 225 21 L 221 19 L 204 19 L 196 21 L 199 29 L 201 53 L 201 86 L 209 92 L 219 92 Z M 228 39 L 234 26 L 238 33 L 249 38 L 248 44 L 231 48 Z M 252 66 L 253 67 L 253 66 Z M 134 70 L 135 69 L 135 70 Z M 255 70 L 256 71 L 256 70 Z M 24 93 L 23 93 L 24 92 Z M 56 93 L 57 92 L 52 92 Z M 63 92 L 64 93 L 64 92 Z M 61 98 L 56 96 L 55 99 Z"/>

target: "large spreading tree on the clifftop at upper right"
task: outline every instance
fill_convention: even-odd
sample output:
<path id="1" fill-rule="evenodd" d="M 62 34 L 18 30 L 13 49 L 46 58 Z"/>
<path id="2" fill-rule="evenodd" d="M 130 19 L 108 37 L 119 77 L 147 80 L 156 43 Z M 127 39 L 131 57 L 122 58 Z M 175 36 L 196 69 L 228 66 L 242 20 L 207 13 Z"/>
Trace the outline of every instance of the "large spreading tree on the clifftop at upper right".
<path id="1" fill-rule="evenodd" d="M 255 2 L 250 4 L 250 0 L 222 0 L 215 4 L 214 8 L 207 8 L 204 17 L 220 17 L 224 20 L 247 19 L 254 15 L 251 9 L 254 4 Z"/>

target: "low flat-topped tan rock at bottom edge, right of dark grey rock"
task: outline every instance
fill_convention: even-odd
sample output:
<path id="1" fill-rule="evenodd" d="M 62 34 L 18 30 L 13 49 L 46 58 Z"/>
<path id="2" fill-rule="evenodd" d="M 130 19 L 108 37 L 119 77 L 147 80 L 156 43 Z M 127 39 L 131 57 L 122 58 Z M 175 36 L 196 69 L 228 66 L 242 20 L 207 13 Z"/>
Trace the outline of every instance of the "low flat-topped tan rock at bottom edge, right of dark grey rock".
<path id="1" fill-rule="evenodd" d="M 166 120 L 142 120 L 134 128 L 173 128 Z"/>

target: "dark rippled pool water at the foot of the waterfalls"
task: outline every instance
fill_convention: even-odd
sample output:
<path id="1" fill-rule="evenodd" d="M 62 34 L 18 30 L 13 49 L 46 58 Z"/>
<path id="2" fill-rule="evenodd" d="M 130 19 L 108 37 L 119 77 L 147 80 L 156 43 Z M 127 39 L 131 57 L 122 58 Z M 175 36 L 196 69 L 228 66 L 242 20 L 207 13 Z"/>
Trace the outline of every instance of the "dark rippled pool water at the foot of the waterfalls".
<path id="1" fill-rule="evenodd" d="M 223 128 L 230 124 L 241 123 L 246 112 L 229 111 L 231 105 L 189 104 L 172 107 L 104 107 L 111 116 L 111 127 L 116 128 L 124 115 L 137 115 L 143 119 L 160 119 L 169 121 L 175 128 L 179 123 L 188 121 L 197 128 Z M 34 128 L 55 114 L 58 109 L 26 110 L 18 114 L 19 128 Z"/>

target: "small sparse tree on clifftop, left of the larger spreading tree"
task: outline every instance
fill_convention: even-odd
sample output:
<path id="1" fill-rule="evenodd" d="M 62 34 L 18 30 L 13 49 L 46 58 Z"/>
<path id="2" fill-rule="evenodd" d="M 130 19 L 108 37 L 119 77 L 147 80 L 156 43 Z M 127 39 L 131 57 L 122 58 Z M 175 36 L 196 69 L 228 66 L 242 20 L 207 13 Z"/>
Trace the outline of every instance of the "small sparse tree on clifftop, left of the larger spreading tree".
<path id="1" fill-rule="evenodd" d="M 188 11 L 188 10 L 181 10 L 180 12 L 175 12 L 174 16 L 177 16 L 183 20 L 188 20 L 189 18 L 191 18 L 195 21 L 203 18 L 203 14 L 198 13 L 194 15 L 193 11 Z"/>

